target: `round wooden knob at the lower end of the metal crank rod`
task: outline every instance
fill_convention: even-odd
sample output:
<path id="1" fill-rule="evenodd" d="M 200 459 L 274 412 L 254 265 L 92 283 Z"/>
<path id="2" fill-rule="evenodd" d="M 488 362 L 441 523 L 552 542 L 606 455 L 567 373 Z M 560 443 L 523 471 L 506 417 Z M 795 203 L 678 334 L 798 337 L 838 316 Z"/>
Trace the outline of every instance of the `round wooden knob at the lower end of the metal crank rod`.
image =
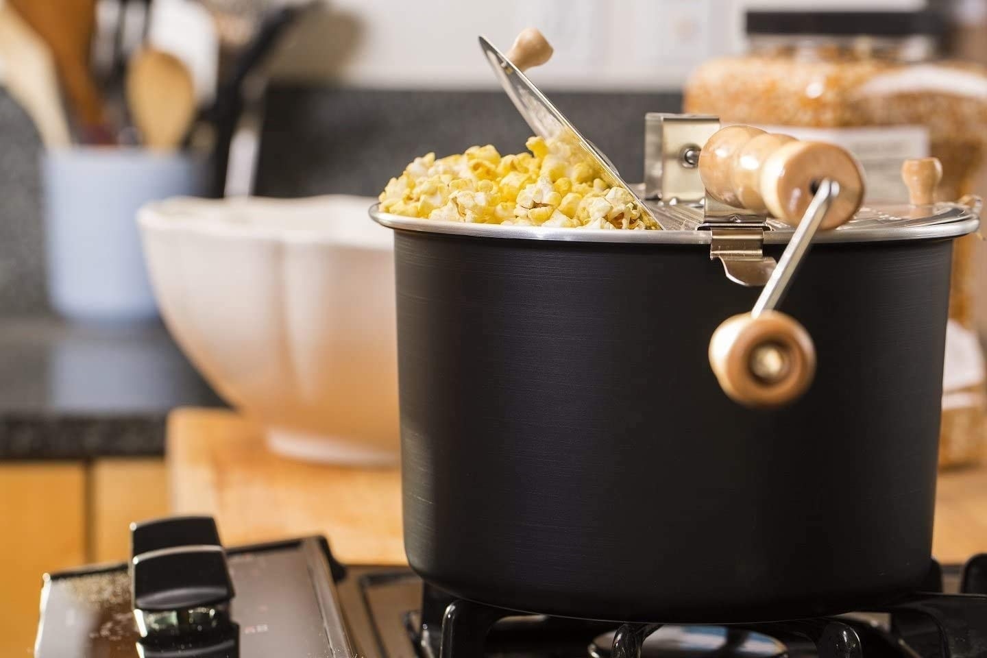
<path id="1" fill-rule="evenodd" d="M 725 320 L 710 339 L 710 365 L 734 402 L 782 406 L 808 389 L 815 374 L 815 347 L 791 316 L 763 311 Z"/>

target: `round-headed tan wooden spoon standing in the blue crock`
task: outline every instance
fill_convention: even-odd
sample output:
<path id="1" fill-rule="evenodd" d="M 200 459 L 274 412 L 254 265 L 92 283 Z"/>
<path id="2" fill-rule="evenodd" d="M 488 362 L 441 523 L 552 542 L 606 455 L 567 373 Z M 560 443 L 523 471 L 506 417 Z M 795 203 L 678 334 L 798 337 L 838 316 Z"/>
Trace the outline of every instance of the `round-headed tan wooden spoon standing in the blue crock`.
<path id="1" fill-rule="evenodd" d="M 126 100 L 145 146 L 181 145 L 195 116 L 195 89 L 181 59 L 154 48 L 138 50 L 127 67 Z"/>

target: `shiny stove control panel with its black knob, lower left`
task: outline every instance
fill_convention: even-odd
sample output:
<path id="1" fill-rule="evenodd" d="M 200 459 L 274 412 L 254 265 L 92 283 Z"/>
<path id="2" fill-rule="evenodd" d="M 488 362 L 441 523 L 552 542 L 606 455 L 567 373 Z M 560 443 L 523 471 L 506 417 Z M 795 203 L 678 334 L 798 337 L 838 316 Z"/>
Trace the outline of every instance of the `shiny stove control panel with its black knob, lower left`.
<path id="1" fill-rule="evenodd" d="M 46 574 L 36 658 L 353 658 L 319 537 L 224 548 L 209 517 L 133 524 L 128 562 Z"/>

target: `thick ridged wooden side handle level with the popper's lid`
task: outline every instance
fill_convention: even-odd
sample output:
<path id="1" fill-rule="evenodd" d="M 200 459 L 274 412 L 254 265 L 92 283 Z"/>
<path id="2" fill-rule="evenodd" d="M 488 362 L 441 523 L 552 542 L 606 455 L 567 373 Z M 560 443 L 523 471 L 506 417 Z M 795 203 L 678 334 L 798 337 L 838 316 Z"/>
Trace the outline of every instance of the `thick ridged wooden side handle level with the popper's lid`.
<path id="1" fill-rule="evenodd" d="M 849 221 L 864 199 L 864 175 L 846 150 L 749 125 L 729 125 L 715 133 L 700 153 L 699 174 L 718 201 L 769 212 L 792 226 L 801 221 L 823 179 L 839 183 L 840 191 L 822 229 Z"/>

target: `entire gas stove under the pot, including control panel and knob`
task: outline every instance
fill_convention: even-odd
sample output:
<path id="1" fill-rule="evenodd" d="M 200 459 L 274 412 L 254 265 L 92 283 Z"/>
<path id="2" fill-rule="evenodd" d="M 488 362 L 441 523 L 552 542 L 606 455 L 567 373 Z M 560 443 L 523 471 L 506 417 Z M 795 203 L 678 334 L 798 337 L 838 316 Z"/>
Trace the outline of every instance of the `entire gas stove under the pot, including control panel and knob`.
<path id="1" fill-rule="evenodd" d="M 794 621 L 554 618 L 457 599 L 323 538 L 223 549 L 208 517 L 132 527 L 128 563 L 45 575 L 37 658 L 983 658 L 987 553 L 921 592 Z"/>

